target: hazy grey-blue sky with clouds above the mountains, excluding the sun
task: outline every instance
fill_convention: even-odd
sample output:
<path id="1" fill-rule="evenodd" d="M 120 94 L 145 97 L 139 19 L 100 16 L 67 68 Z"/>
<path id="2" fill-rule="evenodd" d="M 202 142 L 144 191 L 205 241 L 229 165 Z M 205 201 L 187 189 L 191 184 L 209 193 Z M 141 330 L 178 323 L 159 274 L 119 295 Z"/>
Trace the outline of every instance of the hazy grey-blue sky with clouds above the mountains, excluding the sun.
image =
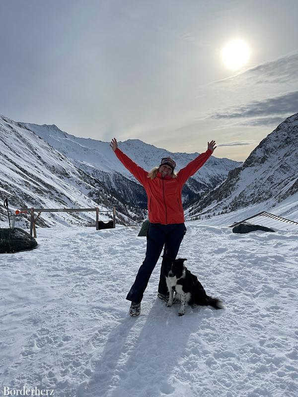
<path id="1" fill-rule="evenodd" d="M 0 0 L 0 114 L 244 161 L 298 112 L 297 0 Z M 250 49 L 239 69 L 222 50 Z"/>

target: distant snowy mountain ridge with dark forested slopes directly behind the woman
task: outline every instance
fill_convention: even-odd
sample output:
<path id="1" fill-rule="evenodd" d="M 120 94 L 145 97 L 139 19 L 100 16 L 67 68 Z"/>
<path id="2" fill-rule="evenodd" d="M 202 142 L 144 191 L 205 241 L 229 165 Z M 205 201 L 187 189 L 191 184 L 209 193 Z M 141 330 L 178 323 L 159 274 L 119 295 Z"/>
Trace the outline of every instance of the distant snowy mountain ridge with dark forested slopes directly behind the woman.
<path id="1" fill-rule="evenodd" d="M 121 196 L 127 199 L 128 204 L 147 206 L 144 189 L 116 158 L 109 142 L 78 138 L 59 130 L 55 125 L 39 126 L 25 123 L 23 125 L 71 159 L 77 167 L 104 183 L 112 194 L 117 195 L 121 189 Z M 159 165 L 162 157 L 174 158 L 176 169 L 179 170 L 199 155 L 199 153 L 171 153 L 138 139 L 129 139 L 118 144 L 121 150 L 148 171 Z M 212 156 L 204 167 L 187 181 L 182 192 L 185 207 L 222 182 L 228 172 L 240 164 L 237 161 Z"/>

